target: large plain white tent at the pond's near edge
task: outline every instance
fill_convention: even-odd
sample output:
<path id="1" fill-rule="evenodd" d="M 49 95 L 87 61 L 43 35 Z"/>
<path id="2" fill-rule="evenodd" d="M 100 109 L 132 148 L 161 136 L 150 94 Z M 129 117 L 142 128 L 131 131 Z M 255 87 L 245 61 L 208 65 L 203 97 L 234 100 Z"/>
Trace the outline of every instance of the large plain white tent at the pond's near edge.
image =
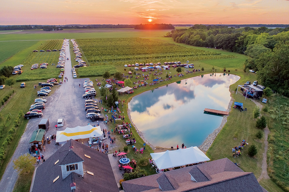
<path id="1" fill-rule="evenodd" d="M 210 159 L 197 147 L 179 149 L 175 151 L 151 153 L 159 170 L 184 166 L 188 164 L 209 161 Z"/>

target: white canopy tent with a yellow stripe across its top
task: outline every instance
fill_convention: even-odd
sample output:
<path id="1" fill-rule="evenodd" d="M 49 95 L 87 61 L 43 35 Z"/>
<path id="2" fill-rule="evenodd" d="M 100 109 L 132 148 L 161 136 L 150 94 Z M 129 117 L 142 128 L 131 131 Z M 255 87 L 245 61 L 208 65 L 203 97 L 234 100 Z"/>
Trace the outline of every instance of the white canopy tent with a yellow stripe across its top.
<path id="1" fill-rule="evenodd" d="M 93 127 L 92 125 L 86 125 L 84 127 L 77 126 L 75 128 L 66 128 L 64 131 L 56 132 L 56 142 L 65 142 L 70 139 L 79 140 L 79 139 L 89 139 L 90 141 L 93 138 L 99 137 L 104 139 L 103 133 L 100 126 Z"/>

